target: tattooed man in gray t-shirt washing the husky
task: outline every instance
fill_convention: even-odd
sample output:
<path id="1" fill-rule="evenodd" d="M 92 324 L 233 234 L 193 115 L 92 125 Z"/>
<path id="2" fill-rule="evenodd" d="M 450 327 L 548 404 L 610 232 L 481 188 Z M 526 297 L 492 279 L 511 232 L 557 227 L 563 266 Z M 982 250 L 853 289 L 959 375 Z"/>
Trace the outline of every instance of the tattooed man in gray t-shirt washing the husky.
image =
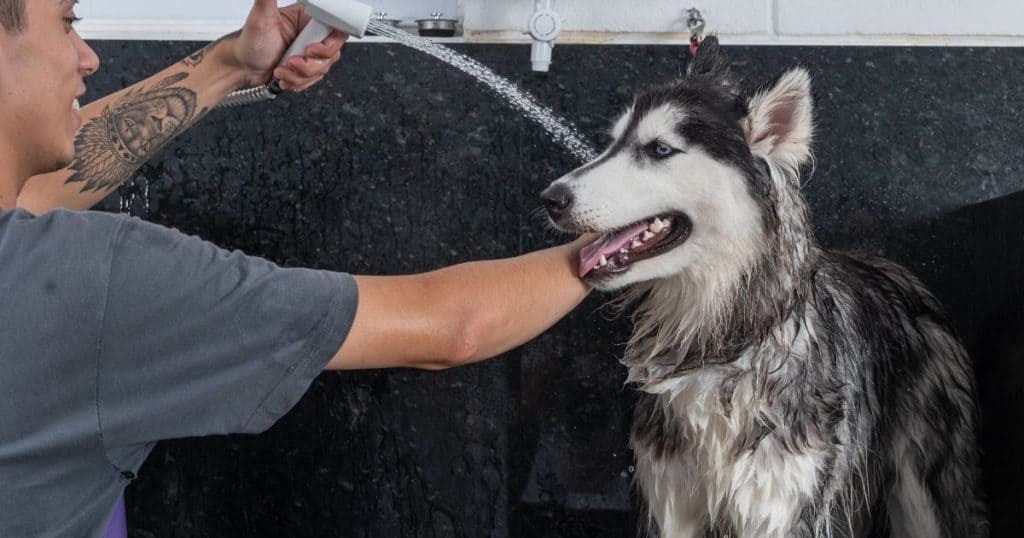
<path id="1" fill-rule="evenodd" d="M 0 536 L 96 536 L 161 440 L 262 431 L 324 368 L 494 357 L 588 293 L 579 242 L 351 277 L 48 211 L 90 207 L 240 86 L 305 89 L 344 39 L 275 69 L 306 18 L 256 0 L 239 35 L 77 111 L 99 63 L 74 4 L 0 0 Z"/>

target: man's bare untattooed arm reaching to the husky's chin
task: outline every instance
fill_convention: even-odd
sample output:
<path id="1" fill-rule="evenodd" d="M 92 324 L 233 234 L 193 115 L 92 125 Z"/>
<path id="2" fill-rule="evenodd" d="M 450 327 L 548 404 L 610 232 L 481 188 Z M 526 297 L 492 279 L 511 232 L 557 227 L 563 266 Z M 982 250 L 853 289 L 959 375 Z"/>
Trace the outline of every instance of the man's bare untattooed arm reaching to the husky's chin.
<path id="1" fill-rule="evenodd" d="M 440 370 L 521 345 L 590 293 L 577 277 L 586 242 L 424 275 L 355 277 L 355 320 L 328 369 Z"/>

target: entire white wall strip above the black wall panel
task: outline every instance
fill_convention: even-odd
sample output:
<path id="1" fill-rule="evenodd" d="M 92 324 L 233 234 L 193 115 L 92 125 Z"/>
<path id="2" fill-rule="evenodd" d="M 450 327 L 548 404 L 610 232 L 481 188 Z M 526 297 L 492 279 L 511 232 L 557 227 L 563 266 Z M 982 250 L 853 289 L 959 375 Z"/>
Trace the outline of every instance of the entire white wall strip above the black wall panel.
<path id="1" fill-rule="evenodd" d="M 457 13 L 464 40 L 524 42 L 534 0 L 365 0 L 389 17 Z M 289 2 L 282 2 L 289 3 Z M 1024 46 L 1021 0 L 554 0 L 563 43 L 685 40 L 697 7 L 726 43 Z M 92 39 L 212 39 L 245 18 L 251 0 L 83 0 Z"/>

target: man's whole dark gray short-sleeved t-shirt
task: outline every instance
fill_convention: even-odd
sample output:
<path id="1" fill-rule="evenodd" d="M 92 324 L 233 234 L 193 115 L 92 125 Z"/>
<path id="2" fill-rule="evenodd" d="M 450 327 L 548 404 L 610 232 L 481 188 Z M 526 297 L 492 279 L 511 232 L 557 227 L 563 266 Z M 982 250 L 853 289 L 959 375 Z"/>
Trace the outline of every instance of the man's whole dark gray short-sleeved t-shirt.
<path id="1" fill-rule="evenodd" d="M 0 211 L 0 537 L 98 536 L 158 441 L 265 430 L 356 301 L 135 218 Z"/>

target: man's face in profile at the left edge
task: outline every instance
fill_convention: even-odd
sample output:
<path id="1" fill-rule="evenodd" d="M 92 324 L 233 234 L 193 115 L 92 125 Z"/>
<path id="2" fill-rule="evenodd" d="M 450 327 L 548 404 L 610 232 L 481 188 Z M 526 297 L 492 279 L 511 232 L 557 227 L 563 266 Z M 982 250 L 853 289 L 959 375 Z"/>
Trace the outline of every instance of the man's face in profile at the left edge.
<path id="1" fill-rule="evenodd" d="M 68 166 L 82 117 L 74 102 L 99 58 L 72 28 L 75 0 L 27 0 L 18 32 L 0 29 L 0 140 L 31 175 Z"/>

